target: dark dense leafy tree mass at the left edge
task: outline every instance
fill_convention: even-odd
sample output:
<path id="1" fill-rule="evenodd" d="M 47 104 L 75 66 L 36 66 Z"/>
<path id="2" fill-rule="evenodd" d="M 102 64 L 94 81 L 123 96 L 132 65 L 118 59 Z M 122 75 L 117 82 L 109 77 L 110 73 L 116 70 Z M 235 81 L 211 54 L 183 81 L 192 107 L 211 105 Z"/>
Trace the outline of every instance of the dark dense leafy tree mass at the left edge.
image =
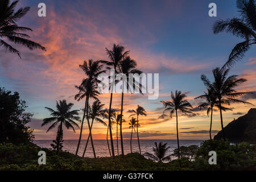
<path id="1" fill-rule="evenodd" d="M 25 113 L 26 102 L 19 93 L 0 88 L 0 143 L 28 143 L 34 139 L 30 127 L 32 114 Z"/>

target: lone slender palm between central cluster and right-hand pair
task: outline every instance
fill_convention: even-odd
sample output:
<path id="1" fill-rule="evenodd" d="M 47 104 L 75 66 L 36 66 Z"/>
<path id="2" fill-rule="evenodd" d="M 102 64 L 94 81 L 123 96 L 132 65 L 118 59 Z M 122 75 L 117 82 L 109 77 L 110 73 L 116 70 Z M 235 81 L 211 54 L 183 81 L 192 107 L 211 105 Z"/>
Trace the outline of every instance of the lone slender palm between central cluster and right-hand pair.
<path id="1" fill-rule="evenodd" d="M 181 93 L 180 91 L 175 91 L 175 94 L 171 92 L 171 101 L 161 101 L 166 107 L 166 109 L 163 111 L 170 111 L 170 116 L 172 118 L 172 115 L 176 114 L 176 131 L 177 131 L 177 147 L 178 147 L 178 154 L 180 159 L 180 144 L 179 144 L 179 131 L 178 131 L 178 115 L 177 111 L 180 110 L 184 114 L 193 114 L 192 113 L 192 105 L 185 100 L 185 97 L 187 97 L 184 93 Z"/>

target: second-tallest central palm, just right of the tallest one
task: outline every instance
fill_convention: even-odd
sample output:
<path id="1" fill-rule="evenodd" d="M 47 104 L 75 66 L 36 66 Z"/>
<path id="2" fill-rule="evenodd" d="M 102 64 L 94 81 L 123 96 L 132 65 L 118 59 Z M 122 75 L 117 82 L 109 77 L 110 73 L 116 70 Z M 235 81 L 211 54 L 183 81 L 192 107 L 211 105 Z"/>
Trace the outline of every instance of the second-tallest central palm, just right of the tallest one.
<path id="1" fill-rule="evenodd" d="M 136 61 L 132 60 L 130 56 L 126 56 L 123 61 L 121 62 L 121 72 L 126 75 L 126 78 L 129 77 L 129 74 L 135 74 L 137 73 L 140 75 L 142 71 L 135 69 L 137 67 Z M 130 85 L 129 82 L 126 80 L 122 80 L 122 85 L 124 88 L 124 85 L 127 85 L 127 88 L 135 88 L 141 90 L 141 84 L 135 82 L 135 79 L 133 78 L 133 85 Z M 139 85 L 139 86 L 137 86 Z M 123 90 L 122 90 L 122 100 L 121 100 L 121 120 L 122 121 L 123 117 Z M 123 135 L 122 135 L 122 122 L 120 122 L 120 138 L 121 138 L 121 150 L 122 150 L 122 155 L 124 155 L 123 152 Z"/>

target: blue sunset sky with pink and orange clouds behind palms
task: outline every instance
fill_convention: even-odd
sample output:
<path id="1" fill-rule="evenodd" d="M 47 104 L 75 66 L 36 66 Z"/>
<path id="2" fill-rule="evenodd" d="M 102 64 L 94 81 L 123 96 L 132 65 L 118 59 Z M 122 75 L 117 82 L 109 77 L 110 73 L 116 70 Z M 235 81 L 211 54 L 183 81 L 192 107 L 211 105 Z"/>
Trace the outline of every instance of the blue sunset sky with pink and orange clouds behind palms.
<path id="1" fill-rule="evenodd" d="M 38 4 L 46 4 L 46 17 L 38 16 Z M 208 15 L 209 3 L 216 3 L 217 17 Z M 193 98 L 203 94 L 205 86 L 201 74 L 212 80 L 212 69 L 222 67 L 232 48 L 240 38 L 221 33 L 213 34 L 213 23 L 218 19 L 238 15 L 236 1 L 37 1 L 24 0 L 20 7 L 31 10 L 19 22 L 19 26 L 32 28 L 31 39 L 46 47 L 47 51 L 30 51 L 15 46 L 21 53 L 6 52 L 0 47 L 0 86 L 19 92 L 27 102 L 27 112 L 33 115 L 30 127 L 36 139 L 55 139 L 56 129 L 46 133 L 49 126 L 41 127 L 42 119 L 50 113 L 44 107 L 55 109 L 56 101 L 67 100 L 81 109 L 84 101 L 74 99 L 84 73 L 79 68 L 84 60 L 108 60 L 105 48 L 119 44 L 130 50 L 144 73 L 159 73 L 159 98 L 148 100 L 147 94 L 125 94 L 123 124 L 124 138 L 130 137 L 129 110 L 141 105 L 147 116 L 139 117 L 141 139 L 176 139 L 175 118 L 160 119 L 163 105 L 170 99 L 171 91 L 180 90 L 195 108 L 196 117 L 179 113 L 180 139 L 208 139 L 209 123 L 205 110 L 196 107 L 201 101 Z M 256 47 L 230 70 L 230 75 L 240 75 L 247 82 L 237 88 L 241 91 L 256 90 Z M 243 96 L 243 100 L 256 104 L 256 94 Z M 100 100 L 109 105 L 109 94 Z M 91 102 L 92 103 L 92 100 Z M 121 95 L 114 94 L 113 107 L 121 108 Z M 233 110 L 223 114 L 224 126 L 253 107 L 231 105 Z M 86 125 L 85 125 L 86 126 Z M 220 114 L 213 113 L 212 134 L 221 129 Z M 93 138 L 105 139 L 106 127 L 93 126 Z M 64 129 L 64 139 L 78 139 L 76 133 Z M 113 130 L 115 133 L 115 130 Z M 82 139 L 88 136 L 84 127 Z"/>

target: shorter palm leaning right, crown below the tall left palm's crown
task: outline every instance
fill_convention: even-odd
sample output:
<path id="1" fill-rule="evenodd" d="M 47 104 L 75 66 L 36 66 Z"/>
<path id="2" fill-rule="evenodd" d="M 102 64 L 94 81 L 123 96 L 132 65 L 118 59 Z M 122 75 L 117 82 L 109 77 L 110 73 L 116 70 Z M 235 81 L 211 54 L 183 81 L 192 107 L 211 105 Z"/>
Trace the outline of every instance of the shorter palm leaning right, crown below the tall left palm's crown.
<path id="1" fill-rule="evenodd" d="M 91 129 L 92 129 L 94 120 L 107 126 L 106 123 L 101 119 L 101 118 L 106 118 L 106 114 L 105 114 L 105 111 L 103 110 L 103 106 L 104 106 L 104 104 L 101 104 L 100 101 L 96 100 L 93 102 L 92 107 L 90 107 L 90 106 L 88 107 L 89 119 L 92 119 L 92 124 L 90 125 Z M 88 138 L 87 138 L 87 141 L 85 144 L 85 148 L 84 148 L 84 153 L 82 154 L 82 157 L 84 157 L 84 155 L 85 155 L 85 151 L 88 146 L 89 139 L 90 139 L 90 135 L 88 135 Z"/>

